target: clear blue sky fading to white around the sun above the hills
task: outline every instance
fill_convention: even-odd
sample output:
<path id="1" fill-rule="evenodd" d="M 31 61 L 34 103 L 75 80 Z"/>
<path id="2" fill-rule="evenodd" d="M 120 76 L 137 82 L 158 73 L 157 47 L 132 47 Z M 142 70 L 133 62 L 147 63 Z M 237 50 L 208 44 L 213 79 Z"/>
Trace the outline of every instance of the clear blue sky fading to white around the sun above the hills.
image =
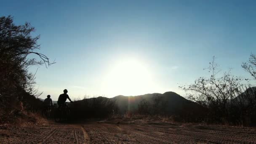
<path id="1" fill-rule="evenodd" d="M 256 53 L 255 0 L 1 0 L 0 16 L 30 22 L 40 53 L 56 64 L 29 68 L 36 88 L 57 100 L 135 96 L 193 83 L 212 57 L 250 77 Z M 30 56 L 33 57 L 33 56 Z"/>

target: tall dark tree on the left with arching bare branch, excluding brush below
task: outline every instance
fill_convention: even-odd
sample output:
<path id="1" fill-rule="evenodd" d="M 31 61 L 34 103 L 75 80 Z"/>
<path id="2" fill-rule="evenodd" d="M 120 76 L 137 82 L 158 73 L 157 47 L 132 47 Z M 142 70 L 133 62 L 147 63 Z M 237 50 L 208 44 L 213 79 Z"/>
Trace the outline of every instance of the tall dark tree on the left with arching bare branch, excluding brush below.
<path id="1" fill-rule="evenodd" d="M 40 49 L 37 40 L 33 37 L 35 28 L 29 23 L 16 25 L 13 17 L 0 17 L 0 106 L 6 107 L 14 99 L 21 99 L 22 93 L 32 93 L 34 75 L 28 72 L 28 67 L 37 64 L 49 66 L 47 56 L 38 53 Z M 28 58 L 35 54 L 40 60 Z"/>

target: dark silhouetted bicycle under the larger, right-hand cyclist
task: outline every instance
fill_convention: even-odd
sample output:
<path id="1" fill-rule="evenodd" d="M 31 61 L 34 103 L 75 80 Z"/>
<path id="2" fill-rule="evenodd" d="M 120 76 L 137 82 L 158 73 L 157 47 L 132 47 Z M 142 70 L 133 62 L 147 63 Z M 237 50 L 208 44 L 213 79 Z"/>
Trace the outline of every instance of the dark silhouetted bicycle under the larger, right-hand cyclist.
<path id="1" fill-rule="evenodd" d="M 68 120 L 71 114 L 71 109 L 68 105 L 68 102 L 60 105 L 54 112 L 54 120 L 55 122 L 61 122 L 62 120 Z"/>

